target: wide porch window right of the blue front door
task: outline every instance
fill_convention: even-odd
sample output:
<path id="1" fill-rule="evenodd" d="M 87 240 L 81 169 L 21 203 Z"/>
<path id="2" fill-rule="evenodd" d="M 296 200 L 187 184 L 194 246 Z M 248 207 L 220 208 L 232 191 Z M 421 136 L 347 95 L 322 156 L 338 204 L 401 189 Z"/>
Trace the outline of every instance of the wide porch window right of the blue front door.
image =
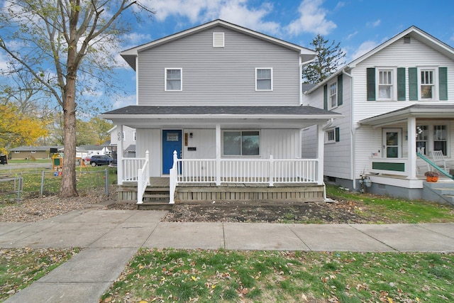
<path id="1" fill-rule="evenodd" d="M 223 155 L 260 155 L 260 131 L 223 131 Z"/>

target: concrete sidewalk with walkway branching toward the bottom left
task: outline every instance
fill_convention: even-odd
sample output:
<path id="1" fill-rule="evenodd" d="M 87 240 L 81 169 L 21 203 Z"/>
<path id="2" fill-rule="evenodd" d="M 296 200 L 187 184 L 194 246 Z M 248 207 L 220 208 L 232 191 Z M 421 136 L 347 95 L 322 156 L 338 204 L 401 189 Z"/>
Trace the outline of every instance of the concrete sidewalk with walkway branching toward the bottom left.
<path id="1" fill-rule="evenodd" d="M 167 211 L 72 211 L 0 222 L 0 248 L 83 248 L 6 302 L 98 302 L 138 248 L 454 252 L 454 224 L 161 222 Z"/>

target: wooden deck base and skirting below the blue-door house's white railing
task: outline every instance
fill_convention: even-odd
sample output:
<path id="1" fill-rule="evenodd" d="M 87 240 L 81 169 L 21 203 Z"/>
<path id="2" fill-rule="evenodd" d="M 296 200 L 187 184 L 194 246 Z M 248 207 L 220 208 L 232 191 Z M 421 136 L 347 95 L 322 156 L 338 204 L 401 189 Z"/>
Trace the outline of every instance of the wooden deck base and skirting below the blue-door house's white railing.
<path id="1" fill-rule="evenodd" d="M 168 191 L 168 177 L 150 177 L 147 191 Z M 118 200 L 137 202 L 137 183 L 118 185 Z M 175 203 L 212 202 L 323 202 L 323 185 L 308 183 L 281 183 L 275 186 L 250 183 L 179 183 Z M 162 202 L 162 199 L 160 200 Z M 153 203 L 153 202 L 150 202 Z M 168 201 L 167 201 L 168 203 Z"/>

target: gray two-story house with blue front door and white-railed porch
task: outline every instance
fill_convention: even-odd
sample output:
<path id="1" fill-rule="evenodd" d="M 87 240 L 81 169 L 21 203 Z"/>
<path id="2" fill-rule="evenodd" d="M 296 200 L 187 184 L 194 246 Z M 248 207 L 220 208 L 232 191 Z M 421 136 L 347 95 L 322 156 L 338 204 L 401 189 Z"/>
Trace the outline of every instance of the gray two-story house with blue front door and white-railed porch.
<path id="1" fill-rule="evenodd" d="M 140 158 L 118 153 L 118 184 L 138 180 L 138 203 L 148 176 L 167 180 L 170 203 L 323 200 L 322 126 L 341 115 L 302 105 L 313 50 L 216 20 L 121 55 L 136 72 L 137 102 L 101 117 L 117 136 L 135 128 Z M 309 126 L 319 136 L 308 160 L 301 129 Z"/>

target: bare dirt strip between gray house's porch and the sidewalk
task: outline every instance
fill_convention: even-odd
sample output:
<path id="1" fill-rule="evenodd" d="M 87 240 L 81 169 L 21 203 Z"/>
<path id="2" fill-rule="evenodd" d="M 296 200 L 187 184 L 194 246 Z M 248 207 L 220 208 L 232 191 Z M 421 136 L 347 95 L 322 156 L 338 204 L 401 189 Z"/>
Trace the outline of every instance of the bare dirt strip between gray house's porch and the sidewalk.
<path id="1" fill-rule="evenodd" d="M 165 216 L 169 222 L 268 222 L 363 224 L 386 222 L 381 216 L 365 216 L 364 206 L 352 201 L 330 203 L 261 203 L 215 202 L 209 204 L 175 204 Z"/>

